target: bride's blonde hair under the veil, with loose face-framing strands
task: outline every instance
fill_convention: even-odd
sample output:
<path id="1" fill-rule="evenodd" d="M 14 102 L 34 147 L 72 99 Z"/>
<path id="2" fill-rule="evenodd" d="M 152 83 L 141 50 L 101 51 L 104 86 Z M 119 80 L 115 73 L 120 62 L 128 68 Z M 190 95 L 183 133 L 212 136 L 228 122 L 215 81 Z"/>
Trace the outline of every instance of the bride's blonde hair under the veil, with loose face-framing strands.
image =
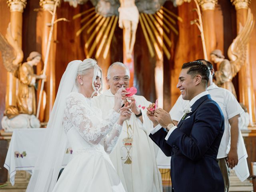
<path id="1" fill-rule="evenodd" d="M 80 63 L 80 65 L 78 66 L 76 77 L 78 75 L 84 76 L 84 75 L 89 74 L 90 69 L 94 69 L 93 77 L 92 77 L 92 88 L 94 89 L 94 92 L 92 93 L 92 96 L 93 96 L 97 92 L 93 82 L 96 79 L 98 70 L 100 70 L 100 75 L 101 75 L 100 83 L 102 84 L 102 69 L 98 66 L 97 61 L 94 59 L 90 59 L 90 58 L 83 60 L 83 62 Z M 78 87 L 77 78 L 76 78 L 76 86 Z"/>

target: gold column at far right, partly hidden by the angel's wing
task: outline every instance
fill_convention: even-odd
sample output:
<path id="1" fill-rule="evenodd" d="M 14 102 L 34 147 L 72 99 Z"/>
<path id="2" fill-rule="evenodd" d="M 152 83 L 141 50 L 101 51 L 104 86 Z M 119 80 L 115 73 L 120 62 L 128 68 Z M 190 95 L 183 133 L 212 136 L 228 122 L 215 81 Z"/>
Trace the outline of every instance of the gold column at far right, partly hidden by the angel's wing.
<path id="1" fill-rule="evenodd" d="M 251 0 L 231 0 L 236 8 L 236 28 L 237 33 L 240 31 L 240 27 L 244 26 L 246 22 L 248 6 Z M 250 63 L 250 46 L 247 45 L 247 54 L 244 66 L 241 67 L 238 72 L 239 83 L 239 100 L 248 109 L 250 114 L 250 124 L 255 122 L 255 97 L 252 84 L 252 64 Z"/>

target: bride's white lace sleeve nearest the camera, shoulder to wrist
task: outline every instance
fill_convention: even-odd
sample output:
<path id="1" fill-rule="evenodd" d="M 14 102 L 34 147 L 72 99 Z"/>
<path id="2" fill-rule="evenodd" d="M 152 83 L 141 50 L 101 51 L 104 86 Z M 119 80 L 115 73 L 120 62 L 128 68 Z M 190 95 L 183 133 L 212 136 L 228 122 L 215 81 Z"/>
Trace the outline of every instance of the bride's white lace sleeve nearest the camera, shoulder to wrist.
<path id="1" fill-rule="evenodd" d="M 92 125 L 89 118 L 90 115 L 94 114 L 92 114 L 92 112 L 88 110 L 79 99 L 70 97 L 66 100 L 66 108 L 64 110 L 64 127 L 65 124 L 68 126 L 67 122 L 71 122 L 86 141 L 91 144 L 98 144 L 102 138 L 111 131 L 119 117 L 119 114 L 114 110 L 111 110 L 109 115 L 97 126 Z M 71 127 L 72 125 L 68 127 Z"/>

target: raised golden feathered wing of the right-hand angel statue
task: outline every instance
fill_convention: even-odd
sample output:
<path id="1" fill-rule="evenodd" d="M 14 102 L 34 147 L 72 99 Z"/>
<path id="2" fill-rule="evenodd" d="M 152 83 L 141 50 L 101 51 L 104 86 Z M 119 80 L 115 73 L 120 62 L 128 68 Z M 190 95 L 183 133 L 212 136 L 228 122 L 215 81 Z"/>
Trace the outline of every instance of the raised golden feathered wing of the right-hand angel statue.
<path id="1" fill-rule="evenodd" d="M 254 27 L 253 15 L 250 8 L 248 9 L 247 19 L 243 27 L 240 27 L 240 32 L 233 40 L 228 48 L 228 58 L 232 67 L 232 75 L 236 76 L 241 66 L 246 60 L 247 44 L 250 40 Z"/>

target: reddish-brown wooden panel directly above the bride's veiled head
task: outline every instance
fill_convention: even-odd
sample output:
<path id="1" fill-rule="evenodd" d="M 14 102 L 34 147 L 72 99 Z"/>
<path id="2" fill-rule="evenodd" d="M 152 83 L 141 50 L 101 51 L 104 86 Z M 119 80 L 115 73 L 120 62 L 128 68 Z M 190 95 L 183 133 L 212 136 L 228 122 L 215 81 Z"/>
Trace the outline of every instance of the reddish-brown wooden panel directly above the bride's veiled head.
<path id="1" fill-rule="evenodd" d="M 72 60 L 84 60 L 83 42 L 81 36 L 76 37 L 76 31 L 80 29 L 80 18 L 73 20 L 72 17 L 82 12 L 83 6 L 70 7 L 68 2 L 62 2 L 57 9 L 57 18 L 66 18 L 70 22 L 60 21 L 57 26 L 56 38 L 56 94 L 62 74 L 66 66 Z"/>

